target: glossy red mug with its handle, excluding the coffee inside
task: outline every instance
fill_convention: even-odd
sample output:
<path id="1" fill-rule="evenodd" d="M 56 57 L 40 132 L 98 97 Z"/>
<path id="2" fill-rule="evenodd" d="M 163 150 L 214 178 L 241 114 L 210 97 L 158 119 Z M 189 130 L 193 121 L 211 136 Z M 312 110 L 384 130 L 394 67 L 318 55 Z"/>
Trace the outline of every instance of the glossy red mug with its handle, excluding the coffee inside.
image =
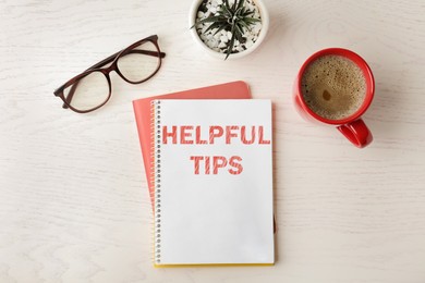
<path id="1" fill-rule="evenodd" d="M 341 120 L 329 120 L 313 112 L 313 110 L 311 110 L 307 103 L 304 101 L 303 95 L 301 93 L 301 79 L 306 67 L 313 61 L 324 56 L 341 56 L 351 60 L 362 70 L 366 81 L 366 96 L 361 107 L 352 115 Z M 371 106 L 371 102 L 374 98 L 375 81 L 371 67 L 367 65 L 366 61 L 364 61 L 363 58 L 361 58 L 359 54 L 342 48 L 328 48 L 314 53 L 301 66 L 295 79 L 293 93 L 296 110 L 305 119 L 314 122 L 321 122 L 328 125 L 335 125 L 356 147 L 363 148 L 372 143 L 372 133 L 367 128 L 361 116 Z"/>

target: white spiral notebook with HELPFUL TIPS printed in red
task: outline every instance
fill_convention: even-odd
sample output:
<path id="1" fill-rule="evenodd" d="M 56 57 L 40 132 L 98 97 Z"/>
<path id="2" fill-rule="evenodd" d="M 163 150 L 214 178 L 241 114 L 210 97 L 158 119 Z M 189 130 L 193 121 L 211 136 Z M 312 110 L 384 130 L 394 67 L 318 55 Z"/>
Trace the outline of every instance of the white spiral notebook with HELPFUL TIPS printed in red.
<path id="1" fill-rule="evenodd" d="M 271 102 L 154 100 L 154 264 L 272 264 Z"/>

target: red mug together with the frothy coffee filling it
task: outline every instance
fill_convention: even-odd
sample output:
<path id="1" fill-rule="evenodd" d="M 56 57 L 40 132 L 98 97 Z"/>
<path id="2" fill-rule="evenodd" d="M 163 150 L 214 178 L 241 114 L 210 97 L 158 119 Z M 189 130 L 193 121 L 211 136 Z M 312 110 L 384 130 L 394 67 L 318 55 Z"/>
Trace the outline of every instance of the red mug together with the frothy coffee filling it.
<path id="1" fill-rule="evenodd" d="M 317 51 L 301 66 L 293 94 L 306 120 L 336 126 L 356 147 L 371 144 L 362 115 L 374 98 L 375 81 L 359 54 L 342 48 Z"/>

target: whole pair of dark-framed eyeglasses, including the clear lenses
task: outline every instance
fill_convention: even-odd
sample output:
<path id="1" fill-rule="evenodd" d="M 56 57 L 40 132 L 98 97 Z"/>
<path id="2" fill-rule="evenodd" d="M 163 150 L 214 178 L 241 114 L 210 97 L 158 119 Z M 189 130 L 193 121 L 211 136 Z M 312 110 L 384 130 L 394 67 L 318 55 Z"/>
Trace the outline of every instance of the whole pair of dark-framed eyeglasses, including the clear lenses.
<path id="1" fill-rule="evenodd" d="M 141 84 L 153 77 L 166 53 L 158 46 L 158 36 L 144 38 L 90 66 L 54 90 L 63 108 L 87 113 L 105 106 L 111 97 L 109 73 L 116 71 L 130 84 Z M 106 66 L 110 64 L 109 66 Z"/>

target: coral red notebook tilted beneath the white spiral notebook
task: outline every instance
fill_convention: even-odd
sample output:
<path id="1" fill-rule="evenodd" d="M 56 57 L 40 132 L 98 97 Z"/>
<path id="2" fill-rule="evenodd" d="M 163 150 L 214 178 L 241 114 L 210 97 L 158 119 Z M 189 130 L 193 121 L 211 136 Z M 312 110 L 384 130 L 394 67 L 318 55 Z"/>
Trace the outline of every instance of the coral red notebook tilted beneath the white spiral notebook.
<path id="1" fill-rule="evenodd" d="M 248 99 L 251 98 L 250 87 L 242 81 L 220 84 L 215 86 L 195 88 L 179 93 L 172 93 L 156 97 L 148 97 L 133 101 L 134 114 L 136 118 L 138 138 L 142 147 L 143 162 L 146 177 L 149 180 L 150 168 L 150 102 L 154 99 Z M 154 188 L 148 183 L 150 202 L 154 206 Z"/>

